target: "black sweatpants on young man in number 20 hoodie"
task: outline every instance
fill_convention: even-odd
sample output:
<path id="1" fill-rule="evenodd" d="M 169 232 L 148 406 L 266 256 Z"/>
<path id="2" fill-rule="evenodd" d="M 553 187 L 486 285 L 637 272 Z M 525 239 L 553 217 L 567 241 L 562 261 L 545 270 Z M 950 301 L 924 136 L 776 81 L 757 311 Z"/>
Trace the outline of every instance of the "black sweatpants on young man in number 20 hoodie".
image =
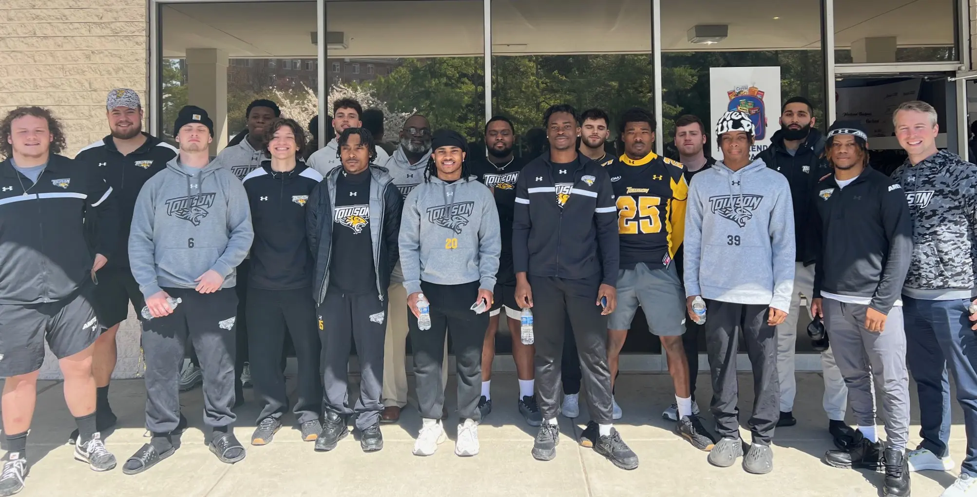
<path id="1" fill-rule="evenodd" d="M 441 364 L 445 360 L 447 332 L 451 334 L 457 366 L 458 417 L 480 421 L 478 405 L 482 395 L 482 345 L 488 328 L 488 312 L 476 314 L 471 309 L 479 296 L 479 282 L 438 285 L 421 281 L 421 291 L 431 304 L 431 329 L 419 329 L 417 317 L 407 311 L 421 417 L 441 419 L 445 407 Z"/>

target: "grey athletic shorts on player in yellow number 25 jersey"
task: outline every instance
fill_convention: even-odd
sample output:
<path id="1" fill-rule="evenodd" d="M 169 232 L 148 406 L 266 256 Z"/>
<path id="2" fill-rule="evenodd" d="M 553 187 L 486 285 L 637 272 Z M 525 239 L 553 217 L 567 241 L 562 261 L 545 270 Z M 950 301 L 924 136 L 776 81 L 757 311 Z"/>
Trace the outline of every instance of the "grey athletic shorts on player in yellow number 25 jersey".
<path id="1" fill-rule="evenodd" d="M 630 329 L 639 305 L 652 333 L 659 337 L 685 333 L 685 289 L 675 266 L 648 269 L 638 263 L 634 269 L 617 271 L 617 308 L 611 313 L 608 329 Z"/>

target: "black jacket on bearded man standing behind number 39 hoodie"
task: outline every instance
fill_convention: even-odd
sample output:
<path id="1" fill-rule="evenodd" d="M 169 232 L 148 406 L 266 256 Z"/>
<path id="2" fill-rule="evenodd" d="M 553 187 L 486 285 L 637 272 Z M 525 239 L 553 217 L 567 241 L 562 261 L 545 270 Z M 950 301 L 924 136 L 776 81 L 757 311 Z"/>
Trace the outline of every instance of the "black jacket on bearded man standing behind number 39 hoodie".
<path id="1" fill-rule="evenodd" d="M 811 230 L 808 227 L 814 216 L 814 188 L 818 181 L 831 172 L 828 164 L 822 159 L 825 151 L 825 138 L 821 132 L 812 129 L 807 141 L 797 147 L 797 152 L 790 155 L 784 146 L 784 131 L 774 133 L 770 139 L 770 146 L 758 153 L 757 158 L 763 159 L 767 167 L 780 171 L 790 184 L 790 198 L 794 208 L 794 238 L 796 239 L 798 263 L 810 266 L 817 257 L 817 246 L 812 243 Z"/>

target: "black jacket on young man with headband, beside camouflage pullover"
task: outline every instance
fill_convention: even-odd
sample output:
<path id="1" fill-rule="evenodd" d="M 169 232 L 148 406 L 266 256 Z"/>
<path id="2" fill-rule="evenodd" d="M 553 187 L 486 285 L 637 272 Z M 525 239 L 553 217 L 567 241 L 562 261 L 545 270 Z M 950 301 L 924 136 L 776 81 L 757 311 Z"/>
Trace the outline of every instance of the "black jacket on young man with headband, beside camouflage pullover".
<path id="1" fill-rule="evenodd" d="M 814 296 L 828 292 L 871 298 L 872 309 L 889 313 L 913 258 L 913 221 L 905 191 L 867 168 L 844 188 L 829 176 L 812 197 L 812 241 L 819 248 Z"/>

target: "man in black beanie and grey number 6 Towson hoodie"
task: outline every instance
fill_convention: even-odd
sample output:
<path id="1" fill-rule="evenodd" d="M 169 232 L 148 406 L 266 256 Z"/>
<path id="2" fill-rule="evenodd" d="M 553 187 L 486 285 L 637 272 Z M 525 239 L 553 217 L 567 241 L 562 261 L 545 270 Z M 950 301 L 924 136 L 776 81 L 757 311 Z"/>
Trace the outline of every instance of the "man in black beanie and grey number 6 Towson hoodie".
<path id="1" fill-rule="evenodd" d="M 205 110 L 181 109 L 174 135 L 180 154 L 143 186 L 129 233 L 132 274 L 152 314 L 143 325 L 146 427 L 152 438 L 126 461 L 127 475 L 148 470 L 176 450 L 172 435 L 186 426 L 178 378 L 188 338 L 203 368 L 210 450 L 225 463 L 244 459 L 231 428 L 234 269 L 254 238 L 247 192 L 229 170 L 210 162 L 213 121 Z M 179 299 L 179 306 L 174 309 L 170 299 Z"/>

